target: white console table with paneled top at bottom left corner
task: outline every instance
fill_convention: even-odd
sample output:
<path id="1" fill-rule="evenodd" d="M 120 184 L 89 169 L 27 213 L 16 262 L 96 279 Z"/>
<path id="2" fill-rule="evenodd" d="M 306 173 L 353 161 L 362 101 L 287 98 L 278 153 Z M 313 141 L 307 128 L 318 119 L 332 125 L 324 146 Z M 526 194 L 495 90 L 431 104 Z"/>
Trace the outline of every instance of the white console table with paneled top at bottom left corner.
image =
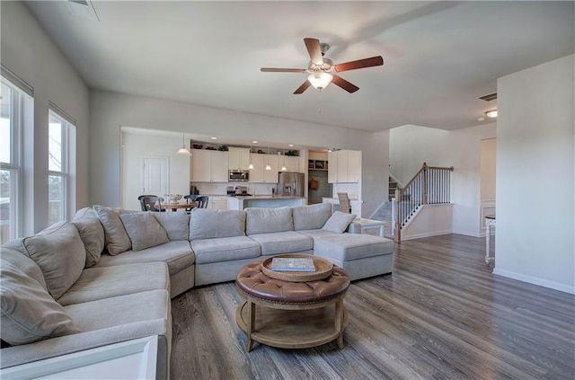
<path id="1" fill-rule="evenodd" d="M 0 377 L 3 380 L 155 380 L 157 347 L 158 337 L 154 335 L 4 368 Z"/>

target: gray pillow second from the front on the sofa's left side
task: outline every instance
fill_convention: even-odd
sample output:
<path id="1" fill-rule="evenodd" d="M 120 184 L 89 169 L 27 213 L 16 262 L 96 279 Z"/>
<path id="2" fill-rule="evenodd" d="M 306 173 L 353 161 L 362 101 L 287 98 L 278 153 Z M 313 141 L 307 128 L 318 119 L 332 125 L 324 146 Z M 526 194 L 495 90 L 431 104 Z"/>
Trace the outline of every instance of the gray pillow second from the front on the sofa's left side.
<path id="1" fill-rule="evenodd" d="M 22 239 L 24 254 L 42 270 L 50 295 L 62 296 L 82 274 L 84 243 L 74 225 L 60 222 Z"/>

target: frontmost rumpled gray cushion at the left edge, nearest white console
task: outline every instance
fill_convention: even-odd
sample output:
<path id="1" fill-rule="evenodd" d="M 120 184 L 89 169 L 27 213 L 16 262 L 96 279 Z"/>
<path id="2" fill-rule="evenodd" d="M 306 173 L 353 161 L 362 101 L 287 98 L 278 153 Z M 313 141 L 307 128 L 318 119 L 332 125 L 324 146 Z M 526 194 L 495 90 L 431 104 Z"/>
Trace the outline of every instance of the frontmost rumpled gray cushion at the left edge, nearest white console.
<path id="1" fill-rule="evenodd" d="M 80 332 L 38 281 L 8 261 L 0 265 L 0 333 L 12 345 Z"/>

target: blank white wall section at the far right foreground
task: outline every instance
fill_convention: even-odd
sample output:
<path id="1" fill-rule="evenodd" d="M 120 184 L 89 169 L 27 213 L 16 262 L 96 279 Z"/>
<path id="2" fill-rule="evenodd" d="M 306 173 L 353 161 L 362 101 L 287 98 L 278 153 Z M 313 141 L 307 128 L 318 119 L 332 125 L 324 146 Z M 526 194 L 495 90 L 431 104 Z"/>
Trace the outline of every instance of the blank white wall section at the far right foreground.
<path id="1" fill-rule="evenodd" d="M 575 56 L 498 80 L 494 273 L 575 293 Z"/>

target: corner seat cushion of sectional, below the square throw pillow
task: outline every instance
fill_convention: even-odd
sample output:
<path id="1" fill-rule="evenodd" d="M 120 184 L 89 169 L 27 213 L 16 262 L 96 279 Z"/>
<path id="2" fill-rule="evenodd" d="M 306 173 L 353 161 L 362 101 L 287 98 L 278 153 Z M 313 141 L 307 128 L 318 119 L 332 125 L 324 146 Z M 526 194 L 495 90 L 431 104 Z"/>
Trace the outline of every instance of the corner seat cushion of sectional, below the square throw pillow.
<path id="1" fill-rule="evenodd" d="M 117 256 L 102 254 L 102 259 L 93 268 L 111 267 L 113 265 L 134 264 L 138 262 L 162 261 L 168 264 L 170 276 L 193 265 L 194 252 L 191 251 L 190 242 L 168 242 L 143 251 L 127 251 Z"/>

